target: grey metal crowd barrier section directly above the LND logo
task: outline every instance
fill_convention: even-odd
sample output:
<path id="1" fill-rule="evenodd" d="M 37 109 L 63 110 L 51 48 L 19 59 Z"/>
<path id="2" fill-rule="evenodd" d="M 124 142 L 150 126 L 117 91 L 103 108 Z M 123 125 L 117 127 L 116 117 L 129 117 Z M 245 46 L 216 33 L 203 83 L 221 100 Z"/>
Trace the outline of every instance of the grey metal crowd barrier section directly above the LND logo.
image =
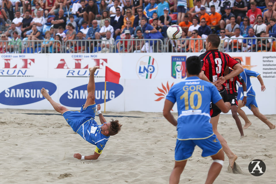
<path id="1" fill-rule="evenodd" d="M 127 41 L 127 44 L 125 44 Z M 163 51 L 163 41 L 161 39 L 118 39 L 115 41 L 115 50 L 118 52 L 141 52 L 143 45 L 145 45 L 145 51 L 147 52 L 146 44 L 149 47 L 149 52 L 162 52 Z M 127 45 L 127 47 L 126 47 Z M 140 49 L 137 49 L 137 45 L 140 45 Z M 127 51 L 126 51 L 127 49 Z"/>

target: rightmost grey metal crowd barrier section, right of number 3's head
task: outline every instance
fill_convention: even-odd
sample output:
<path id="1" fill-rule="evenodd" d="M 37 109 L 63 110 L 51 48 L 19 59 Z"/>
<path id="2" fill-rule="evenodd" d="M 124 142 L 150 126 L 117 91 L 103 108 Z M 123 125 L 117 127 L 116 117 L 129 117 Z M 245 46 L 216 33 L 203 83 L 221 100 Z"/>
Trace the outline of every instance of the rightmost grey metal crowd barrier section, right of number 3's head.
<path id="1" fill-rule="evenodd" d="M 270 46 L 270 49 L 269 49 L 269 51 L 271 51 L 272 43 L 273 43 L 273 41 L 276 41 L 275 37 L 226 38 L 226 39 L 223 40 L 222 45 L 224 45 L 225 41 L 227 41 L 227 47 L 225 48 L 227 52 L 247 52 L 247 51 L 243 51 L 244 40 L 246 40 L 246 47 L 245 48 L 247 50 L 250 49 L 249 52 L 257 52 L 258 49 L 260 49 L 260 52 L 263 52 L 262 39 L 265 39 L 265 51 L 268 51 L 267 43 L 271 43 L 271 46 Z M 235 45 L 236 49 L 234 48 L 234 45 L 232 44 L 234 40 L 242 40 L 240 49 L 239 49 L 239 42 L 238 41 Z M 256 40 L 255 44 L 248 45 L 249 41 L 251 41 L 251 43 L 253 43 L 253 40 Z M 261 46 L 259 46 L 258 41 L 261 41 Z M 255 45 L 255 47 L 253 47 L 253 45 Z M 250 46 L 250 47 L 248 47 L 248 46 Z"/>

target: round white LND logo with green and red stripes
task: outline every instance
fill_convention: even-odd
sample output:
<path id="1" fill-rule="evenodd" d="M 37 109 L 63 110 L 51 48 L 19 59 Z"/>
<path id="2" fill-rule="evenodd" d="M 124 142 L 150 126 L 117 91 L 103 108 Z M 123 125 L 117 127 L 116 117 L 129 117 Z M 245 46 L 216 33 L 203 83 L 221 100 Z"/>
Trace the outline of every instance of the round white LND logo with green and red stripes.
<path id="1" fill-rule="evenodd" d="M 152 56 L 145 55 L 138 60 L 136 71 L 141 79 L 155 78 L 158 73 L 158 64 Z"/>

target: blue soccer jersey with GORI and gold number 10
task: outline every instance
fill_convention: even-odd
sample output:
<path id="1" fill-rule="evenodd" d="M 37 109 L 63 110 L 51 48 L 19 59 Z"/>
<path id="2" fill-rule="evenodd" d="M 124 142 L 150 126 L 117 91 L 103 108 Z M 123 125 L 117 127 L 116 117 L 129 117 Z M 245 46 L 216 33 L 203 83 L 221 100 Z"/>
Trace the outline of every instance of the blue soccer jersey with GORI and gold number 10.
<path id="1" fill-rule="evenodd" d="M 205 139 L 212 136 L 210 103 L 222 99 L 216 87 L 198 77 L 173 85 L 166 99 L 177 102 L 177 139 Z"/>

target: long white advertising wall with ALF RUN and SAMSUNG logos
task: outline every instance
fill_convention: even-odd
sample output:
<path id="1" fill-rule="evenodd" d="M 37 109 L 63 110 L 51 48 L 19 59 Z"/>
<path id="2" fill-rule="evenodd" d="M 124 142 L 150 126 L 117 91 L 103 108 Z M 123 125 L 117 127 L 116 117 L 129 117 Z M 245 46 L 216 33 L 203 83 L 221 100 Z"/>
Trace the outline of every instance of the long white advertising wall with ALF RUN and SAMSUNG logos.
<path id="1" fill-rule="evenodd" d="M 88 68 L 95 73 L 96 103 L 104 103 L 105 66 L 120 73 L 119 84 L 107 82 L 107 111 L 162 112 L 170 87 L 186 78 L 185 61 L 201 53 L 85 53 L 0 55 L 0 108 L 49 109 L 41 96 L 42 87 L 71 110 L 80 109 L 87 96 Z M 261 74 L 266 91 L 251 78 L 256 100 L 263 114 L 276 113 L 276 55 L 273 52 L 229 53 L 244 68 Z M 243 108 L 252 114 L 248 108 Z M 173 111 L 177 112 L 176 105 Z"/>

